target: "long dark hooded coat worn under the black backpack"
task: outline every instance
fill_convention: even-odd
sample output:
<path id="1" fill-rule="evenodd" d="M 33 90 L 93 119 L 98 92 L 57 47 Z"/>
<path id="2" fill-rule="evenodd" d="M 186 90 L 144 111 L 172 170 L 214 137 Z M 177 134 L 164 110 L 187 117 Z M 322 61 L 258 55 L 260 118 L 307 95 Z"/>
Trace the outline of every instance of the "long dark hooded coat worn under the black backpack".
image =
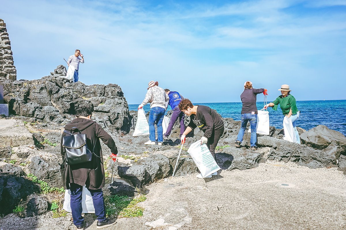
<path id="1" fill-rule="evenodd" d="M 65 189 L 70 188 L 70 183 L 86 186 L 89 189 L 96 190 L 104 187 L 104 168 L 100 139 L 106 144 L 112 153 L 117 154 L 118 149 L 111 136 L 102 129 L 102 127 L 93 120 L 84 118 L 76 118 L 71 123 L 67 124 L 64 128 L 70 131 L 73 127 L 77 127 L 82 134 L 86 134 L 86 144 L 89 149 L 94 149 L 90 162 L 66 165 L 64 147 L 62 147 L 63 137 L 69 136 L 63 132 L 60 142 L 61 156 L 63 163 L 60 166 L 61 177 Z M 94 148 L 95 147 L 95 148 Z"/>

